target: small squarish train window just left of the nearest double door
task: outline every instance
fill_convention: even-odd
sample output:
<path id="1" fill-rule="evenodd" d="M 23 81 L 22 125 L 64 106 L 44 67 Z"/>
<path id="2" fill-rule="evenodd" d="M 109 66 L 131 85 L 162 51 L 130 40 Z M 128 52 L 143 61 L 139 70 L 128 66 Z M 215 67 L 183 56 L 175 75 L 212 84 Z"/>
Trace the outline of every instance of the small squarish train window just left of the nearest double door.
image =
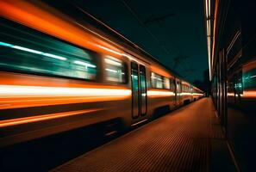
<path id="1" fill-rule="evenodd" d="M 106 79 L 111 82 L 125 83 L 125 65 L 120 59 L 107 56 L 104 58 Z"/>

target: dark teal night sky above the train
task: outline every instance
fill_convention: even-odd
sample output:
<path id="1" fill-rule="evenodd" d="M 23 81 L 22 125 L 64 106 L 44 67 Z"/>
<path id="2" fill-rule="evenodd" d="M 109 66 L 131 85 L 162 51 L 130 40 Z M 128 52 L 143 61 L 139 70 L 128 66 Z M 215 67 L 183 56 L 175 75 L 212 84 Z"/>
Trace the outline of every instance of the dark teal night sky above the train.
<path id="1" fill-rule="evenodd" d="M 208 58 L 202 0 L 75 2 L 186 80 L 203 80 Z"/>

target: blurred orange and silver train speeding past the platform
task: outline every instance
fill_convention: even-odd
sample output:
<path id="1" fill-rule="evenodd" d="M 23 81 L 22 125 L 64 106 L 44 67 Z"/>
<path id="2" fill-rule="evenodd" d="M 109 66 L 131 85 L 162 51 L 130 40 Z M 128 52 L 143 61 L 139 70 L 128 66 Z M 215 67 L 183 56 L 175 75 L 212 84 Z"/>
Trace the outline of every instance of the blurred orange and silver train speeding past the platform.
<path id="1" fill-rule="evenodd" d="M 89 14 L 78 22 L 39 1 L 0 11 L 1 147 L 109 120 L 136 126 L 203 96 Z"/>

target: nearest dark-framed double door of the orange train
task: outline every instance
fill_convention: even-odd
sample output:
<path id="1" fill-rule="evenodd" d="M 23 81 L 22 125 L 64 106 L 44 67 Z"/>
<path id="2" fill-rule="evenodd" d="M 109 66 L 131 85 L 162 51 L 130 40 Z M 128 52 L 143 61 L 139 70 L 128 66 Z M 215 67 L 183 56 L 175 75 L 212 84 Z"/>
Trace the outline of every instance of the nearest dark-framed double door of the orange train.
<path id="1" fill-rule="evenodd" d="M 131 63 L 132 116 L 138 118 L 147 114 L 147 79 L 145 66 Z"/>

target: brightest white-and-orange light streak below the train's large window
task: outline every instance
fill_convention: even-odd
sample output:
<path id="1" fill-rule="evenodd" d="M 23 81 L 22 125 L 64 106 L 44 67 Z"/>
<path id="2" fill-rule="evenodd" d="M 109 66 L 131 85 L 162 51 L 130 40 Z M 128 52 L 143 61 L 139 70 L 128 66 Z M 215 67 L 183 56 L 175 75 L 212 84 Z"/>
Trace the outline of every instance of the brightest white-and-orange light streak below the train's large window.
<path id="1" fill-rule="evenodd" d="M 0 85 L 0 109 L 128 99 L 130 89 Z"/>

